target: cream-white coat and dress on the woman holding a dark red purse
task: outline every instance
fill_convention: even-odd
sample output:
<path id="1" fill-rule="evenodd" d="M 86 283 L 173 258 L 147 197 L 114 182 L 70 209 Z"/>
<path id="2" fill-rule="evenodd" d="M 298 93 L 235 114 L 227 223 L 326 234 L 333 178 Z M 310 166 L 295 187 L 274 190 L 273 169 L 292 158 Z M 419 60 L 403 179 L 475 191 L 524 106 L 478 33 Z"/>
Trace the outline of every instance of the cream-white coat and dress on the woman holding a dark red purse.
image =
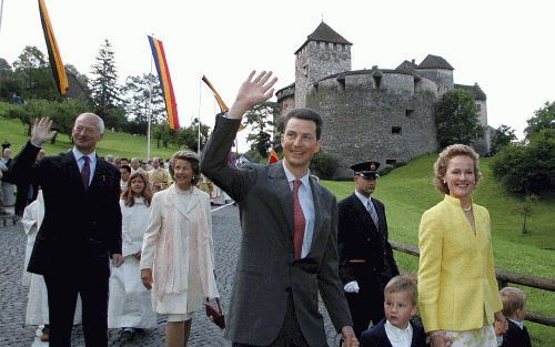
<path id="1" fill-rule="evenodd" d="M 175 185 L 154 194 L 141 268 L 151 268 L 157 313 L 188 315 L 220 297 L 214 278 L 210 197 Z"/>

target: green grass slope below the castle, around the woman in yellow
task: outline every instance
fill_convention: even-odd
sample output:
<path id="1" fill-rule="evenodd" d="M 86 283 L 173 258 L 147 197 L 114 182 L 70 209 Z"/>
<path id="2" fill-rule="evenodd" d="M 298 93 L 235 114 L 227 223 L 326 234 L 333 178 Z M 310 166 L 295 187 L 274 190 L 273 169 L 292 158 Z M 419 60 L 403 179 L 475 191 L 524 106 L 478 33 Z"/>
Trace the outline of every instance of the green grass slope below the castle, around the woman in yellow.
<path id="1" fill-rule="evenodd" d="M 443 196 L 433 185 L 433 163 L 437 155 L 424 155 L 379 178 L 375 197 L 386 207 L 390 238 L 417 246 L 418 225 L 422 213 Z M 495 181 L 491 170 L 491 159 L 481 160 L 483 181 L 480 183 L 474 202 L 488 208 L 492 217 L 492 234 L 495 266 L 533 276 L 553 278 L 555 274 L 555 200 L 541 197 L 528 220 L 531 233 L 521 233 L 522 216 L 515 208 L 522 198 L 507 194 Z M 322 181 L 339 200 L 353 193 L 353 182 Z M 395 252 L 401 268 L 416 273 L 417 258 Z M 528 296 L 528 309 L 555 315 L 555 295 L 551 292 L 521 287 Z M 555 346 L 555 328 L 526 323 L 533 346 Z"/>

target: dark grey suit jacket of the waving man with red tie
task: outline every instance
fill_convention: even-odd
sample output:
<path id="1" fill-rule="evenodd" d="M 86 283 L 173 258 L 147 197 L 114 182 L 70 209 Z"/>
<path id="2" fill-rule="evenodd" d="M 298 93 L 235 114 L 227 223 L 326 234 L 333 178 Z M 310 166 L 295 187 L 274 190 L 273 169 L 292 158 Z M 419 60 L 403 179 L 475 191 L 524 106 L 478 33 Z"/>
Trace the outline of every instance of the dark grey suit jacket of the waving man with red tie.
<path id="1" fill-rule="evenodd" d="M 310 346 L 325 346 L 319 290 L 337 331 L 352 325 L 337 275 L 335 197 L 311 177 L 314 234 L 309 255 L 294 261 L 293 193 L 283 164 L 228 166 L 239 124 L 218 116 L 201 162 L 202 172 L 239 202 L 243 232 L 225 336 L 234 343 L 270 345 L 292 295 L 304 338 Z"/>

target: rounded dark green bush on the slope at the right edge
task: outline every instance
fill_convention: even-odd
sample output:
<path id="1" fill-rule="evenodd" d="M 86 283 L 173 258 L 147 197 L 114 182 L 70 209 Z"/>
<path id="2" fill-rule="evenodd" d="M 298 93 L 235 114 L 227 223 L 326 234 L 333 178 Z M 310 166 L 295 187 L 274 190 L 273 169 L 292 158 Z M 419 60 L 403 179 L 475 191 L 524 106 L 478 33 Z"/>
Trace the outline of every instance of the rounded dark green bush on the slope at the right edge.
<path id="1" fill-rule="evenodd" d="M 493 161 L 493 173 L 505 188 L 518 194 L 555 190 L 555 129 L 541 130 L 527 145 L 509 143 Z"/>

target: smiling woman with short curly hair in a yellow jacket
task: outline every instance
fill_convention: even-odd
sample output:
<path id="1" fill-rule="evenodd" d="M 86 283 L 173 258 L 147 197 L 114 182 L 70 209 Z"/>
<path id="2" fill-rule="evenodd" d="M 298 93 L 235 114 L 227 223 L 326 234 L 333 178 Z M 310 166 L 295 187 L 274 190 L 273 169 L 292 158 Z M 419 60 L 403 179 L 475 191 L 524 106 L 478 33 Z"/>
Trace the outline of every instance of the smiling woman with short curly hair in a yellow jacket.
<path id="1" fill-rule="evenodd" d="M 444 200 L 422 216 L 420 309 L 432 346 L 496 347 L 494 318 L 506 320 L 493 265 L 490 213 L 472 201 L 478 155 L 454 144 L 434 164 Z"/>

